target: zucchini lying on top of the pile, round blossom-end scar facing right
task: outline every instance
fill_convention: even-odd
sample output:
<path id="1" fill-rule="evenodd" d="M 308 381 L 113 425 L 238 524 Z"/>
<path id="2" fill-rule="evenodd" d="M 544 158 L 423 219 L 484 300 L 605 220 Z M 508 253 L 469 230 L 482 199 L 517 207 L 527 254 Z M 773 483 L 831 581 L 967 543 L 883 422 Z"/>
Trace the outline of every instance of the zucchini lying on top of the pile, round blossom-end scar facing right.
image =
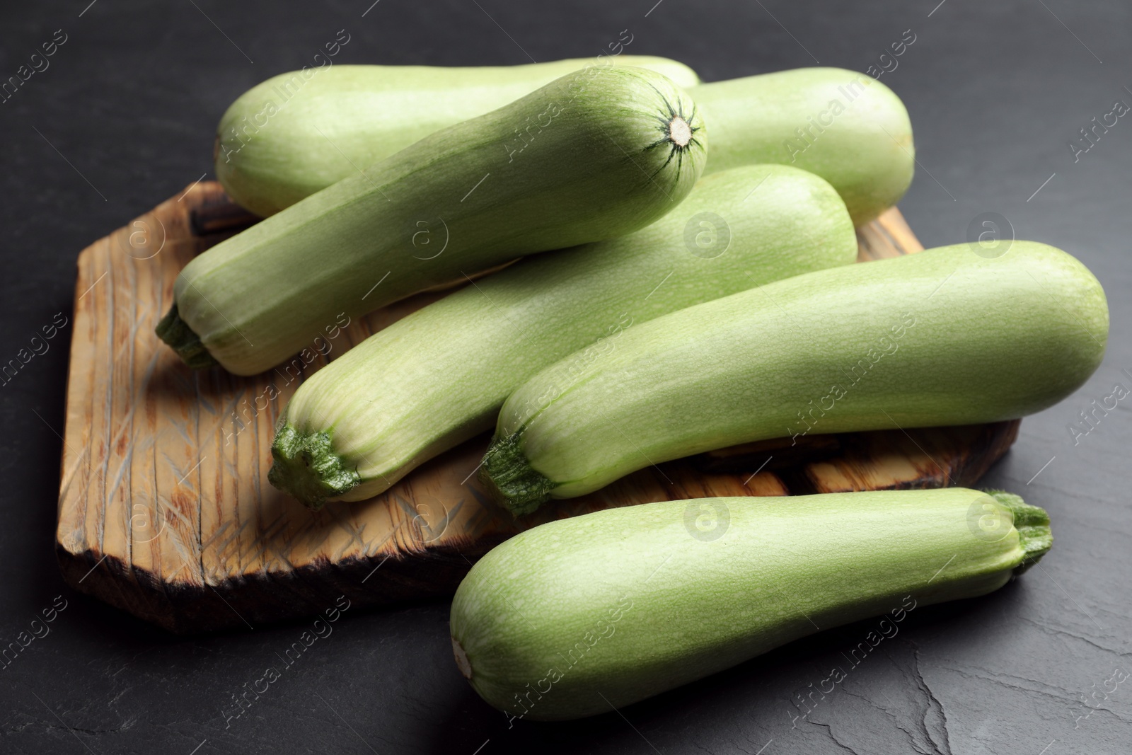
<path id="1" fill-rule="evenodd" d="M 213 247 L 178 276 L 158 334 L 190 366 L 263 371 L 343 314 L 652 223 L 705 149 L 695 105 L 661 74 L 576 71 Z"/>

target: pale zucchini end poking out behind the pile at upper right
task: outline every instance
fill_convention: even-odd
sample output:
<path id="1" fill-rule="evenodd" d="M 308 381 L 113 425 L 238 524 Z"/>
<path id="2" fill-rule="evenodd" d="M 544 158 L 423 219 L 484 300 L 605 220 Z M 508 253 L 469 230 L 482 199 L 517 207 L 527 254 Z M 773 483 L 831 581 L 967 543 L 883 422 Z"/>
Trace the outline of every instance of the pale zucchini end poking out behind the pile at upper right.
<path id="1" fill-rule="evenodd" d="M 752 162 L 816 173 L 844 199 L 858 226 L 904 196 L 916 170 L 908 110 L 892 89 L 842 68 L 798 68 L 702 84 L 706 171 Z"/>

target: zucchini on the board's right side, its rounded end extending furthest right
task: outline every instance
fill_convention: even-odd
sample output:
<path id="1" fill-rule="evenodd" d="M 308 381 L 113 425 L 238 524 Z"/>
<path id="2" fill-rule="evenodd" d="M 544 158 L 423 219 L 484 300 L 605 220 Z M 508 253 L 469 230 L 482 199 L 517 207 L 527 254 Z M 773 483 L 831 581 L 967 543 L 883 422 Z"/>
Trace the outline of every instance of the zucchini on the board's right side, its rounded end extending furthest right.
<path id="1" fill-rule="evenodd" d="M 1040 411 L 1100 364 L 1108 308 L 1065 252 L 958 244 L 807 273 L 659 317 L 499 413 L 481 480 L 515 514 L 739 443 Z"/>

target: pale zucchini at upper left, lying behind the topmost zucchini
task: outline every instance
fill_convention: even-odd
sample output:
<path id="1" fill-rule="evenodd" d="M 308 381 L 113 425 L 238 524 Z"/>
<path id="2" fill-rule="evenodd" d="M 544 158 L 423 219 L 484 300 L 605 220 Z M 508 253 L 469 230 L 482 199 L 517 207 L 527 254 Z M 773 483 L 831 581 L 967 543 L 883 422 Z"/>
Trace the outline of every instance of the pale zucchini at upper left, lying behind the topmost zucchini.
<path id="1" fill-rule="evenodd" d="M 216 128 L 216 178 L 234 201 L 273 215 L 429 134 L 610 65 L 648 68 L 681 87 L 700 83 L 684 63 L 651 55 L 480 68 L 324 63 L 274 76 L 232 103 Z"/>

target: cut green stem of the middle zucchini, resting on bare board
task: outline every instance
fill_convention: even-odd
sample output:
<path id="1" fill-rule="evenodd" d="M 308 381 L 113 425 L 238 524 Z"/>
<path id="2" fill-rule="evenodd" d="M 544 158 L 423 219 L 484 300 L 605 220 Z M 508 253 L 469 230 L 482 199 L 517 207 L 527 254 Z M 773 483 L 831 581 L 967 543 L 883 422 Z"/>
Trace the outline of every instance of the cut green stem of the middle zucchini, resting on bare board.
<path id="1" fill-rule="evenodd" d="M 331 434 L 301 432 L 281 424 L 272 443 L 272 469 L 267 481 L 317 512 L 361 482 L 361 475 L 334 451 Z"/>

